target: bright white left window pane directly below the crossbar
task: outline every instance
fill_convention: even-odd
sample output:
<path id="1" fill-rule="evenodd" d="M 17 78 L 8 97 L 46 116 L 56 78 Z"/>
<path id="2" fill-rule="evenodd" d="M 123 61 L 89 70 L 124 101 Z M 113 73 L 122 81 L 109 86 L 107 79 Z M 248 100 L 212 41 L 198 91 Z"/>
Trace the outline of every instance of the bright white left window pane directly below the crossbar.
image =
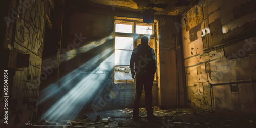
<path id="1" fill-rule="evenodd" d="M 133 37 L 119 37 L 115 38 L 115 49 L 133 50 Z"/>

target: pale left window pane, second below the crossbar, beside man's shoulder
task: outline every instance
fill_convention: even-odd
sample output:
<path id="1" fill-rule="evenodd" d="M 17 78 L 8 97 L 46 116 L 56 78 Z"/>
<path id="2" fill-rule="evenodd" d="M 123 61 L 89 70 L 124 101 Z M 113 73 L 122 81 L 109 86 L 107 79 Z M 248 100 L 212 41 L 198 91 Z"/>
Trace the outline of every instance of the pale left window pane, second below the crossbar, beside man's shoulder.
<path id="1" fill-rule="evenodd" d="M 115 50 L 115 65 L 129 66 L 132 50 Z"/>

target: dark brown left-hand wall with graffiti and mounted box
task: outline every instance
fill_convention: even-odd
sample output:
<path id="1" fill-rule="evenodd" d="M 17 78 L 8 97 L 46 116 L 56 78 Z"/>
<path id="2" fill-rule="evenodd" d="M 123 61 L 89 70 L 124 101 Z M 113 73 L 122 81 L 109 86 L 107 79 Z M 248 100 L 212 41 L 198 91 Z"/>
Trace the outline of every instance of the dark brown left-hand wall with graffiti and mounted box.
<path id="1" fill-rule="evenodd" d="M 47 1 L 10 1 L 4 4 L 8 6 L 9 13 L 4 16 L 7 23 L 3 24 L 6 27 L 3 49 L 17 55 L 17 58 L 9 57 L 14 67 L 10 67 L 8 61 L 3 62 L 3 67 L 1 66 L 8 69 L 7 127 L 22 127 L 37 117 L 44 45 L 44 16 L 49 8 L 45 2 Z M 28 66 L 20 67 L 27 63 L 25 59 L 19 58 L 18 55 L 22 54 L 29 54 Z M 1 108 L 4 108 L 3 104 L 4 102 L 1 103 Z"/>

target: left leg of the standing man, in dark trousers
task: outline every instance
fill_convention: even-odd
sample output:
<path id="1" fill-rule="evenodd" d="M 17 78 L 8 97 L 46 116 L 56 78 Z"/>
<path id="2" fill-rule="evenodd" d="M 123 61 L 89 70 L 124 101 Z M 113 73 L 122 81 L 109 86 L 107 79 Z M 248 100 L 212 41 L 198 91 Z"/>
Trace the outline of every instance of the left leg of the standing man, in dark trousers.
<path id="1" fill-rule="evenodd" d="M 136 94 L 134 97 L 133 117 L 139 116 L 140 97 L 143 91 L 143 78 L 136 77 Z"/>

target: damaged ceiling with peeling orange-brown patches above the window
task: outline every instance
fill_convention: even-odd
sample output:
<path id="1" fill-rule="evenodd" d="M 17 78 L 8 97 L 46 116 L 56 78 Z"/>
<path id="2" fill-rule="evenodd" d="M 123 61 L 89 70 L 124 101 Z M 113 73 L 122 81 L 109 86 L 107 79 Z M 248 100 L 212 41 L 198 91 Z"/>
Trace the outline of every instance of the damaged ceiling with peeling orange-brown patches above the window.
<path id="1" fill-rule="evenodd" d="M 143 12 L 155 9 L 159 15 L 179 15 L 197 0 L 90 0 L 97 4 L 111 6 L 127 11 Z"/>

